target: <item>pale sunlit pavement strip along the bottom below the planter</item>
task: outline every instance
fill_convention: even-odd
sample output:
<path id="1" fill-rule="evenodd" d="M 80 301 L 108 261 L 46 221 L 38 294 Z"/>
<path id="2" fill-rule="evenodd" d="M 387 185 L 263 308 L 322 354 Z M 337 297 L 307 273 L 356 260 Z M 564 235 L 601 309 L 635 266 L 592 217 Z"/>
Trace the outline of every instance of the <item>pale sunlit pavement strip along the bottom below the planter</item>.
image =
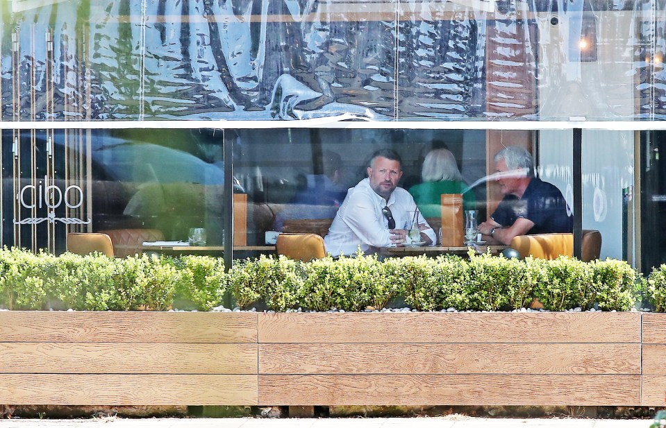
<path id="1" fill-rule="evenodd" d="M 652 420 L 649 419 L 505 419 L 451 415 L 438 418 L 344 419 L 5 419 L 0 420 L 0 428 L 649 428 L 651 423 Z"/>

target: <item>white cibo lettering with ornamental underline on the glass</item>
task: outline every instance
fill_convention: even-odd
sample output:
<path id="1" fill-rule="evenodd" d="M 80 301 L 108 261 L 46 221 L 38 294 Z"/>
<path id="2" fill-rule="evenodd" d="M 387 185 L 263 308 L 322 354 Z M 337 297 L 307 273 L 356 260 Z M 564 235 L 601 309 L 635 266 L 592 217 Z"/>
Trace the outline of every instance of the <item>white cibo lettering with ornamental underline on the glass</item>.
<path id="1" fill-rule="evenodd" d="M 88 221 L 83 221 L 81 219 L 76 219 L 73 217 L 56 217 L 56 208 L 60 207 L 65 203 L 65 206 L 68 208 L 78 208 L 83 205 L 83 189 L 78 186 L 68 186 L 64 191 L 56 185 L 49 185 L 49 177 L 44 176 L 43 180 L 44 185 L 42 185 L 42 180 L 35 185 L 27 185 L 22 187 L 21 191 L 17 192 L 16 199 L 21 203 L 21 206 L 24 208 L 43 208 L 46 207 L 48 210 L 46 217 L 28 217 L 27 219 L 22 219 L 16 221 L 14 219 L 14 224 L 38 224 L 42 221 L 48 221 L 49 223 L 60 223 L 65 224 L 90 224 L 90 219 Z M 26 199 L 28 202 L 26 202 Z M 76 201 L 73 203 L 72 201 Z"/>

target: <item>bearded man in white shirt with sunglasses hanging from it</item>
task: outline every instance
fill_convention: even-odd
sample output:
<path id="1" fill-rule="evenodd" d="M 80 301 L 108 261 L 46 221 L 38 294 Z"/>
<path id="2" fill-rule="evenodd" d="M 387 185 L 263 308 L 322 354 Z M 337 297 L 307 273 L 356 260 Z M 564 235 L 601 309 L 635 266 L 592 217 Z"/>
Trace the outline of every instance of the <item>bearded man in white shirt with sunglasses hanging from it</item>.
<path id="1" fill-rule="evenodd" d="M 401 246 L 408 241 L 406 227 L 417 209 L 408 191 L 397 187 L 402 177 L 400 157 L 392 150 L 372 155 L 368 178 L 347 191 L 333 224 L 324 237 L 326 252 L 337 257 L 366 254 L 378 248 Z M 411 212 L 411 213 L 410 213 Z M 419 212 L 417 224 L 426 245 L 435 244 L 435 232 Z"/>

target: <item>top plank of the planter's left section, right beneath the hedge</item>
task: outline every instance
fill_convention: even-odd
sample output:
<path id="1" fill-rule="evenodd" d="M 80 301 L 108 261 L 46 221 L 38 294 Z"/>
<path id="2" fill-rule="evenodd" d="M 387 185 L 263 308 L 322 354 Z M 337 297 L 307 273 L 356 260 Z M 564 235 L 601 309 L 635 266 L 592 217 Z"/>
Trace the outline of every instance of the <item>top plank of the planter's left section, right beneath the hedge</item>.
<path id="1" fill-rule="evenodd" d="M 256 341 L 257 315 L 249 312 L 0 312 L 0 342 Z"/>

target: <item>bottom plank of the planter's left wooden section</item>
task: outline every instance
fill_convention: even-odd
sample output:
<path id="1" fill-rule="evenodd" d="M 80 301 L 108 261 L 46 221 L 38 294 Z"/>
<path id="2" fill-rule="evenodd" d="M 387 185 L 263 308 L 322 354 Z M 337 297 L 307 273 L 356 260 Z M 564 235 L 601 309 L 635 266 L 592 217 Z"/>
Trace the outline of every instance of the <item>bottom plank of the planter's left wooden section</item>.
<path id="1" fill-rule="evenodd" d="M 3 375 L 3 404 L 257 404 L 256 375 Z"/>

